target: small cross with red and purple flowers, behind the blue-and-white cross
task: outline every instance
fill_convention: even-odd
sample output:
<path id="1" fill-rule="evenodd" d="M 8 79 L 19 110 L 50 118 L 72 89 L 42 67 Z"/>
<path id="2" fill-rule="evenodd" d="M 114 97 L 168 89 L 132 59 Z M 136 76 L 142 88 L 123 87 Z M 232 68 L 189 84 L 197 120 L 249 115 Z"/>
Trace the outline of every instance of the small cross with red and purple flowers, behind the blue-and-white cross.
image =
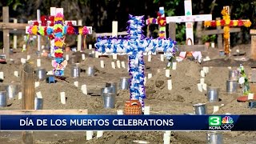
<path id="1" fill-rule="evenodd" d="M 159 7 L 158 18 L 146 19 L 146 25 L 158 24 L 158 36 L 159 38 L 166 38 L 166 17 L 164 7 Z"/>

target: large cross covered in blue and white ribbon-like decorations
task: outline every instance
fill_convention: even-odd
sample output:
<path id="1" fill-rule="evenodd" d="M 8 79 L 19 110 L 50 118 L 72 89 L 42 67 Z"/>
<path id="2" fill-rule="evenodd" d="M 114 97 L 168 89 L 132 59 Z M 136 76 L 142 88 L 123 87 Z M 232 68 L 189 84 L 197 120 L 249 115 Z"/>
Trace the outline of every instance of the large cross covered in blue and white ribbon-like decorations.
<path id="1" fill-rule="evenodd" d="M 146 98 L 144 87 L 144 61 L 143 53 L 157 50 L 164 51 L 166 54 L 174 55 L 175 44 L 170 38 L 145 38 L 142 34 L 144 26 L 144 16 L 129 15 L 130 20 L 127 27 L 128 36 L 122 38 L 98 38 L 95 47 L 99 52 L 106 54 L 128 54 L 130 78 L 130 99 L 137 99 L 144 107 Z"/>

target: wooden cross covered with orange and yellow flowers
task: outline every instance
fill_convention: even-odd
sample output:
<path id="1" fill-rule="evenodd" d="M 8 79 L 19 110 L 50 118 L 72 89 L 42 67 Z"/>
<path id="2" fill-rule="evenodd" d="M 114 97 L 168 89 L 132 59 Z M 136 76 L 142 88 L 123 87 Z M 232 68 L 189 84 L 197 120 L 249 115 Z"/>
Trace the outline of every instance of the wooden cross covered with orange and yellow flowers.
<path id="1" fill-rule="evenodd" d="M 249 19 L 230 20 L 229 6 L 223 6 L 222 15 L 223 15 L 222 16 L 223 19 L 217 20 L 217 21 L 205 21 L 204 25 L 207 27 L 224 26 L 223 27 L 224 50 L 225 50 L 225 54 L 230 54 L 230 27 L 233 27 L 233 26 L 250 27 L 251 22 Z"/>

